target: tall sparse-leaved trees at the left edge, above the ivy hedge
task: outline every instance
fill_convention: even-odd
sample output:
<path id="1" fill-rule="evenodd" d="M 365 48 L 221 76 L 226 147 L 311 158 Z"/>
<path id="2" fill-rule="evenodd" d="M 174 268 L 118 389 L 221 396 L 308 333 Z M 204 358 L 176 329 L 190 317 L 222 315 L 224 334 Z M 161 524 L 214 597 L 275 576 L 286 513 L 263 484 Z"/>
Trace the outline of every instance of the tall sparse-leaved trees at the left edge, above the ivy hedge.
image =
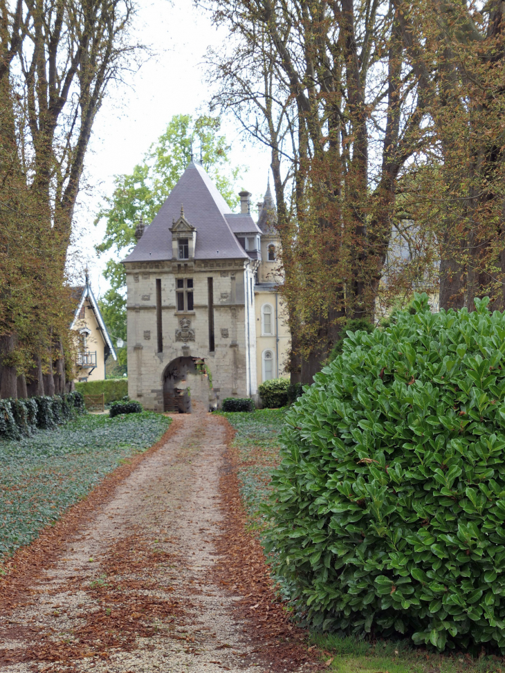
<path id="1" fill-rule="evenodd" d="M 13 4 L 0 2 L 1 397 L 26 394 L 24 374 L 33 394 L 62 389 L 84 157 L 107 88 L 137 48 L 133 0 Z"/>

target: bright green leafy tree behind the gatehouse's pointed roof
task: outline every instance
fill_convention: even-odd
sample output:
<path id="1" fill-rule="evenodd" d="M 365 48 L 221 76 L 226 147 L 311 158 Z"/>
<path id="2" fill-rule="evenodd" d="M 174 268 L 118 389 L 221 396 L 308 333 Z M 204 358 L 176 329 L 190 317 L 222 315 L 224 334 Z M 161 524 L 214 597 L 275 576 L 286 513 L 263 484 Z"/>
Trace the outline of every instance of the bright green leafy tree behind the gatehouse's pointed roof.
<path id="1" fill-rule="evenodd" d="M 231 167 L 230 147 L 219 134 L 220 128 L 219 118 L 172 117 L 143 162 L 137 164 L 131 174 L 116 176 L 116 188 L 96 216 L 95 224 L 102 220 L 107 223 L 104 240 L 96 250 L 99 255 L 112 251 L 115 257 L 107 261 L 104 271 L 111 289 L 105 293 L 101 306 L 116 338 L 126 340 L 126 274 L 120 259 L 135 245 L 137 225 L 140 221 L 147 225 L 154 219 L 192 156 L 201 160 L 231 208 L 239 201 L 235 182 L 240 168 Z"/>

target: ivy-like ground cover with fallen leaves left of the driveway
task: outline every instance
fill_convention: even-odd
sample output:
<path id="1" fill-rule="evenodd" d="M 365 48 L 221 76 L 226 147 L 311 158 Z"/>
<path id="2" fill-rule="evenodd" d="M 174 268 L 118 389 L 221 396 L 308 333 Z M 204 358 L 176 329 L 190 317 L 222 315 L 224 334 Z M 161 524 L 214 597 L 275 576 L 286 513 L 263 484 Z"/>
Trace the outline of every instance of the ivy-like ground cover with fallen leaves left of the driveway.
<path id="1" fill-rule="evenodd" d="M 31 542 L 106 474 L 152 446 L 169 423 L 149 412 L 86 414 L 56 430 L 0 440 L 0 572 L 2 556 Z"/>

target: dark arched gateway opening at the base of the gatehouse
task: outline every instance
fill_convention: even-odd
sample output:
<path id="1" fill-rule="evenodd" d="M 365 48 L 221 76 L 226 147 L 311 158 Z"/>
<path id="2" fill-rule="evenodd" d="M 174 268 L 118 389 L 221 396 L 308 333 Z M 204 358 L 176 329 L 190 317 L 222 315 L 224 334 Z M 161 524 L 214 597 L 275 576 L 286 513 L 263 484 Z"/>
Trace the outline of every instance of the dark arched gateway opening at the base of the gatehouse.
<path id="1" fill-rule="evenodd" d="M 203 358 L 183 356 L 163 372 L 163 411 L 190 414 L 193 402 L 209 407 L 210 384 Z"/>

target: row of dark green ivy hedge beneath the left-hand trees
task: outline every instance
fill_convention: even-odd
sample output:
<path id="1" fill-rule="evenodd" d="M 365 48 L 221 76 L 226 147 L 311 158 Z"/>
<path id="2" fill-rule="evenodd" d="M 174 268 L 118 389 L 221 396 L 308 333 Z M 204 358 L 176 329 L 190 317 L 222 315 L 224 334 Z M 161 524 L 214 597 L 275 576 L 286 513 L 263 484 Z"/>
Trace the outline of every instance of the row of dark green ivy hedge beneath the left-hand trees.
<path id="1" fill-rule="evenodd" d="M 19 439 L 39 428 L 50 430 L 86 413 L 80 392 L 24 400 L 0 400 L 0 439 Z"/>

